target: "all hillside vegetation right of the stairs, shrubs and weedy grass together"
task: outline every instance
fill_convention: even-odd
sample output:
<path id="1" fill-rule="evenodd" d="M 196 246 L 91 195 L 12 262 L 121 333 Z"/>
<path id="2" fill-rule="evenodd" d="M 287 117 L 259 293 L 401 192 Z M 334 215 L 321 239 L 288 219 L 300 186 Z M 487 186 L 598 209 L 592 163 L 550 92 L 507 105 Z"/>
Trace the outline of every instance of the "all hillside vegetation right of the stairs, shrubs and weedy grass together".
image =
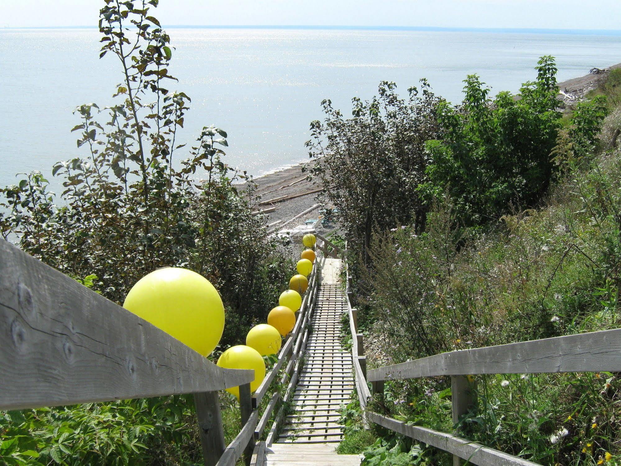
<path id="1" fill-rule="evenodd" d="M 537 70 L 520 99 L 491 99 L 469 76 L 458 106 L 434 98 L 428 108 L 410 98 L 393 111 L 382 99 L 355 101 L 351 119 L 328 108 L 325 123 L 314 124 L 313 155 L 325 160 L 316 173 L 348 212 L 342 222 L 369 367 L 619 326 L 621 152 L 609 144 L 619 111 L 594 96 L 563 117 L 553 59 L 543 57 Z M 394 91 L 382 85 L 381 96 L 386 86 Z M 415 125 L 433 137 L 419 144 L 407 132 Z M 369 140 L 383 152 L 365 151 Z M 409 170 L 400 171 L 412 154 Z M 401 191 L 383 193 L 399 183 Z M 364 214 L 350 216 L 350 203 Z M 617 375 L 498 375 L 476 383 L 478 409 L 457 426 L 450 378 L 388 381 L 384 400 L 369 406 L 416 425 L 456 428 L 543 465 L 621 458 Z M 342 423 L 348 434 L 340 450 L 367 445 L 365 465 L 452 464 L 450 455 L 406 437 L 364 432 L 355 402 Z"/>

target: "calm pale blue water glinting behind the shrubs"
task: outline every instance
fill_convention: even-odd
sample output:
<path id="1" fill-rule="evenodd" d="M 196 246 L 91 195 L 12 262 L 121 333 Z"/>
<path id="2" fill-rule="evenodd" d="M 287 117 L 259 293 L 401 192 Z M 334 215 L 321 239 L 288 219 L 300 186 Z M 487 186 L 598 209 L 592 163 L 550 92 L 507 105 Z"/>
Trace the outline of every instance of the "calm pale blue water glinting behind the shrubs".
<path id="1" fill-rule="evenodd" d="M 168 29 L 171 85 L 191 98 L 183 138 L 202 126 L 229 132 L 227 161 L 253 175 L 305 160 L 309 122 L 320 101 L 344 111 L 380 80 L 405 94 L 419 78 L 451 101 L 479 73 L 495 91 L 533 79 L 540 55 L 555 55 L 559 79 L 621 62 L 621 37 L 404 30 Z M 18 171 L 49 173 L 84 155 L 71 127 L 78 104 L 112 103 L 122 79 L 112 57 L 99 60 L 94 29 L 0 30 L 0 186 Z M 103 120 L 103 119 L 102 119 Z"/>

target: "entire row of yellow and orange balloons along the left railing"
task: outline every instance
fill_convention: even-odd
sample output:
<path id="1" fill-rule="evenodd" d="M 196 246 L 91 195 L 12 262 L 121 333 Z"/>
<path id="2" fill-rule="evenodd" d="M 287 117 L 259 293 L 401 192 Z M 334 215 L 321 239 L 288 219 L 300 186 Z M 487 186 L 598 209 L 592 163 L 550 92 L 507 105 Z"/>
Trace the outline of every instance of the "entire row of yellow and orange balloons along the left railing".
<path id="1" fill-rule="evenodd" d="M 302 305 L 302 295 L 308 288 L 308 278 L 315 262 L 315 235 L 304 235 L 302 242 L 309 248 L 297 262 L 298 275 L 289 280 L 289 290 L 278 299 L 279 306 L 268 314 L 268 323 L 252 327 L 245 345 L 227 349 L 217 365 L 230 369 L 252 369 L 255 379 L 250 391 L 255 391 L 265 378 L 263 356 L 276 354 L 281 348 L 281 336 L 286 336 L 296 324 L 295 312 Z M 214 286 L 196 272 L 180 267 L 165 267 L 143 276 L 127 293 L 123 307 L 175 337 L 207 357 L 222 338 L 224 305 Z M 239 398 L 239 387 L 227 388 Z"/>

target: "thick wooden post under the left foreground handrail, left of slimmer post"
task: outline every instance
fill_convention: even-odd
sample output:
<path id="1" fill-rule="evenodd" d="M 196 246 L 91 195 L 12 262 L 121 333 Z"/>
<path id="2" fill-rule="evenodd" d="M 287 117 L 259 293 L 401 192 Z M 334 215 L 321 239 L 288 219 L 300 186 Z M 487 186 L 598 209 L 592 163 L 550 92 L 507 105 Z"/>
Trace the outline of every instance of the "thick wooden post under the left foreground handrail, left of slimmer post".
<path id="1" fill-rule="evenodd" d="M 227 445 L 224 443 L 224 428 L 220 416 L 220 402 L 217 391 L 194 393 L 194 406 L 201 433 L 202 455 L 205 466 L 214 466 Z"/>

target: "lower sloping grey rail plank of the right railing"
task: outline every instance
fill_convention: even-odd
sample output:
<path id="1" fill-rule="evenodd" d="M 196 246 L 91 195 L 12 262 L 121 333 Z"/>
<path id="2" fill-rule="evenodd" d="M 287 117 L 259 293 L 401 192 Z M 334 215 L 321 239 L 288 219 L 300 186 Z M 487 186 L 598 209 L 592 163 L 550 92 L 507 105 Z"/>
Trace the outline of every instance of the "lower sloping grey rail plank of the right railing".
<path id="1" fill-rule="evenodd" d="M 381 414 L 367 411 L 369 421 L 380 426 L 391 429 L 404 436 L 410 437 L 420 442 L 424 442 L 433 447 L 457 455 L 468 460 L 471 464 L 478 466 L 537 466 L 537 463 L 521 459 L 516 456 L 508 455 L 494 450 L 484 445 L 472 442 L 451 434 L 434 431 L 420 426 L 410 426 L 397 419 L 381 416 Z"/>

